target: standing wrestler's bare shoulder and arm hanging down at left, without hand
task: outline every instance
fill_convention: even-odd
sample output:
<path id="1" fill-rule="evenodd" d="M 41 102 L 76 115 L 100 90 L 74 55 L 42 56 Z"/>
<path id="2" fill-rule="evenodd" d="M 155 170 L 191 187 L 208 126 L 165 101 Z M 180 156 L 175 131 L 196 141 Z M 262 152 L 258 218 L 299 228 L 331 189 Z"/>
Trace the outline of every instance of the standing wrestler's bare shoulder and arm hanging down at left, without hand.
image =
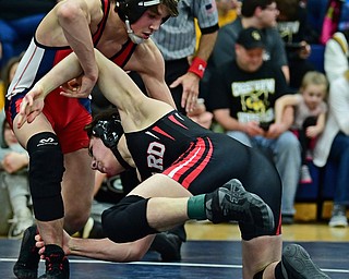
<path id="1" fill-rule="evenodd" d="M 82 92 L 89 95 L 98 77 L 92 28 L 103 17 L 98 0 L 65 0 L 59 2 L 39 25 L 36 37 L 46 46 L 69 45 L 83 68 Z"/>

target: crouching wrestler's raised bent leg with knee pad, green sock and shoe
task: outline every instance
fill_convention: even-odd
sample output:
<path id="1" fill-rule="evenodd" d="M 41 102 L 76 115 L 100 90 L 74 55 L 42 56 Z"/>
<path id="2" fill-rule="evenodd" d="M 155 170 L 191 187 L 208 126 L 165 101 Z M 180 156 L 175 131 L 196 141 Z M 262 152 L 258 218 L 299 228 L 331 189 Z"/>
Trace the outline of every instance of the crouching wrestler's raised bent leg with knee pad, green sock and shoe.
<path id="1" fill-rule="evenodd" d="M 189 219 L 208 219 L 214 223 L 236 220 L 263 232 L 274 229 L 270 208 L 237 180 L 191 197 L 174 180 L 154 174 L 101 216 L 104 232 L 117 243 L 167 231 Z"/>

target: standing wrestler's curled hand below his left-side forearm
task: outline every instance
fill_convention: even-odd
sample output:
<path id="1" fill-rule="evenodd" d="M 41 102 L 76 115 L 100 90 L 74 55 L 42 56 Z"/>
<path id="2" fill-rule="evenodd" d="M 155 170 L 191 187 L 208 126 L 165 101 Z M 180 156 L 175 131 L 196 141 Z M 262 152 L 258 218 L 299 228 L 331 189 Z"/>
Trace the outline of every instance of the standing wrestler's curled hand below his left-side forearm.
<path id="1" fill-rule="evenodd" d="M 60 94 L 70 98 L 87 98 L 95 84 L 96 80 L 81 75 L 60 86 L 62 90 Z"/>

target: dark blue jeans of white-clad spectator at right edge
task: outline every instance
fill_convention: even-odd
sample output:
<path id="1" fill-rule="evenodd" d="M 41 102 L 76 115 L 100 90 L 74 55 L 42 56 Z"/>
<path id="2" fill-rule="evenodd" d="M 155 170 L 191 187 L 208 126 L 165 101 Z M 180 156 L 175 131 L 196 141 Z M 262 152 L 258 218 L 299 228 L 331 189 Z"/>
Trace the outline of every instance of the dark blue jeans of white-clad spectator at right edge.
<path id="1" fill-rule="evenodd" d="M 334 203 L 349 205 L 349 136 L 339 132 L 332 143 L 327 162 L 337 168 Z"/>

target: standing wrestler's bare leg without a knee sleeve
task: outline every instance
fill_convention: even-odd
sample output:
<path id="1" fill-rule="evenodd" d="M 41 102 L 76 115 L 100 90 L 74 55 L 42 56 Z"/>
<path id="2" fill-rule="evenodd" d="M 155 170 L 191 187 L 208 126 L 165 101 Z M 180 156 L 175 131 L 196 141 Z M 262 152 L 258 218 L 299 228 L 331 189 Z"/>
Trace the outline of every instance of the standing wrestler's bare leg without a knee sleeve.
<path id="1" fill-rule="evenodd" d="M 95 174 L 91 169 L 87 148 L 65 154 L 64 167 L 62 182 L 64 229 L 69 233 L 74 233 L 86 223 L 93 201 Z"/>

